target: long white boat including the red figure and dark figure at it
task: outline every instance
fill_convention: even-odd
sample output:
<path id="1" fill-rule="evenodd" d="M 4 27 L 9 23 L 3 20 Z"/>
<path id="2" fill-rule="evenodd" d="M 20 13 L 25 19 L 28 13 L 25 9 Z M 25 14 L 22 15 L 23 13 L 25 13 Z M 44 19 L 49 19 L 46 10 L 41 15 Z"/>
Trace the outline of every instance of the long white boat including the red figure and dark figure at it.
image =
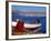
<path id="1" fill-rule="evenodd" d="M 17 20 L 17 22 L 12 22 L 12 27 L 14 27 L 16 30 L 19 30 L 19 31 L 23 31 L 23 30 L 32 31 L 32 30 L 41 28 L 41 22 L 40 20 L 37 20 L 35 23 L 28 23 L 28 22 L 26 23 L 26 22 Z"/>

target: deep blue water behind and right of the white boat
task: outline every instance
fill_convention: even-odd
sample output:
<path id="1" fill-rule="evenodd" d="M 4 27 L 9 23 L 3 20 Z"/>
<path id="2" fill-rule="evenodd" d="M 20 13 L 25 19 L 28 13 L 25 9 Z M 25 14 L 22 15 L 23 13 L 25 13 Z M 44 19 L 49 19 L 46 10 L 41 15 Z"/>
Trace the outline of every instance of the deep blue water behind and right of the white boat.
<path id="1" fill-rule="evenodd" d="M 38 19 L 41 22 L 41 32 L 45 33 L 47 30 L 47 17 L 23 17 L 23 16 L 18 16 L 18 14 L 12 14 L 12 21 L 17 21 L 17 19 L 22 19 L 23 22 L 31 23 L 35 22 Z"/>

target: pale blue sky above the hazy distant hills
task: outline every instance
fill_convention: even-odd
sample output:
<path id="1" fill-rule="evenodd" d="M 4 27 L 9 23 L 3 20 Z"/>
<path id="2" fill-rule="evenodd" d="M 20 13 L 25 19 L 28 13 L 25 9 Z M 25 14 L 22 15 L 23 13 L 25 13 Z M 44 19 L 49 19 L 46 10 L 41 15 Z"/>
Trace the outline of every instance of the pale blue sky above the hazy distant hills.
<path id="1" fill-rule="evenodd" d="M 44 12 L 45 7 L 32 7 L 32 6 L 12 6 L 14 10 L 20 11 L 37 11 L 37 12 Z"/>

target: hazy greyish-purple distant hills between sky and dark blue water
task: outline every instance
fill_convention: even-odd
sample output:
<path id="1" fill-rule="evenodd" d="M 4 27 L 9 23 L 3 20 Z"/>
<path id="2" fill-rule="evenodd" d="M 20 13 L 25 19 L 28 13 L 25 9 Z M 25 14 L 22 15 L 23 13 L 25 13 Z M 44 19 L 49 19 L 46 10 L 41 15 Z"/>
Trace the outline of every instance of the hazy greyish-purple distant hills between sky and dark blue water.
<path id="1" fill-rule="evenodd" d="M 35 11 L 19 11 L 19 10 L 12 10 L 12 13 L 24 16 L 24 17 L 45 17 L 45 12 L 35 12 Z"/>

